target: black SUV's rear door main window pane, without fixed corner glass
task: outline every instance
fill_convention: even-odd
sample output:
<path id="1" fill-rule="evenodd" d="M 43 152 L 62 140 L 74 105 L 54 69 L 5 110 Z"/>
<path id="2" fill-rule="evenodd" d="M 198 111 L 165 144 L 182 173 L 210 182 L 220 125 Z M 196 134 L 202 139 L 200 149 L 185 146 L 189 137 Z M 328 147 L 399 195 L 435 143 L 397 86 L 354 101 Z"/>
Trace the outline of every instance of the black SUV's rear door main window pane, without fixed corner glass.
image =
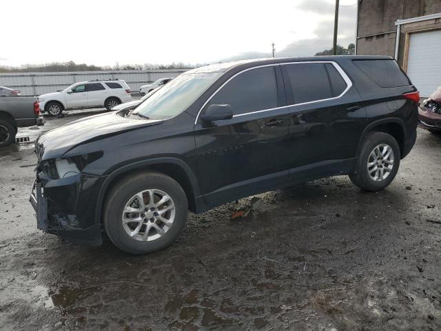
<path id="1" fill-rule="evenodd" d="M 323 63 L 294 63 L 280 66 L 290 104 L 333 97 Z"/>

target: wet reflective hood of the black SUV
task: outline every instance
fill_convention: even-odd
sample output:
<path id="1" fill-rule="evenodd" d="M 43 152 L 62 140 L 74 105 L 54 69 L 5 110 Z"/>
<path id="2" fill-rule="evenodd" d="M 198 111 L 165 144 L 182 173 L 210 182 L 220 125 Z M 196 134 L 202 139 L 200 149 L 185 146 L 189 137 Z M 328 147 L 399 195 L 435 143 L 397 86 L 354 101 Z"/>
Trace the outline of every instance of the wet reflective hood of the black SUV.
<path id="1" fill-rule="evenodd" d="M 35 150 L 39 161 L 52 159 L 61 157 L 65 152 L 84 143 L 147 126 L 155 126 L 162 122 L 162 120 L 127 119 L 117 112 L 98 114 L 41 134 L 35 141 Z"/>

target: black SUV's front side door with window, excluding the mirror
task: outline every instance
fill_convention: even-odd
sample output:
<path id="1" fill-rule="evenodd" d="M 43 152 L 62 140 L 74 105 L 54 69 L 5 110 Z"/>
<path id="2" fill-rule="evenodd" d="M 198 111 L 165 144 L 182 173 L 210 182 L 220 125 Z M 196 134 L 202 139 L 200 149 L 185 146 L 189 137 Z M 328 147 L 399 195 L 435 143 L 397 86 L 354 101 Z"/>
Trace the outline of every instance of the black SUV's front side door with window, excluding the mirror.
<path id="1" fill-rule="evenodd" d="M 263 66 L 229 79 L 203 108 L 229 104 L 232 119 L 195 126 L 199 182 L 207 203 L 232 201 L 286 183 L 289 115 L 280 68 Z M 203 114 L 203 111 L 201 114 Z"/>

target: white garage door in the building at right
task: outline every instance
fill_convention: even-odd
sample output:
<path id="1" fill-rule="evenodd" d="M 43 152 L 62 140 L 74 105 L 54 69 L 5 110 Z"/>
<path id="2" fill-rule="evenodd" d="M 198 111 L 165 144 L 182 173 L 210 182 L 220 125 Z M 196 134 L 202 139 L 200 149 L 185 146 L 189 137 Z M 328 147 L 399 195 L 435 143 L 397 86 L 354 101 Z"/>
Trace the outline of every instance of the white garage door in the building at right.
<path id="1" fill-rule="evenodd" d="M 441 86 L 441 30 L 411 34 L 407 75 L 421 97 Z"/>

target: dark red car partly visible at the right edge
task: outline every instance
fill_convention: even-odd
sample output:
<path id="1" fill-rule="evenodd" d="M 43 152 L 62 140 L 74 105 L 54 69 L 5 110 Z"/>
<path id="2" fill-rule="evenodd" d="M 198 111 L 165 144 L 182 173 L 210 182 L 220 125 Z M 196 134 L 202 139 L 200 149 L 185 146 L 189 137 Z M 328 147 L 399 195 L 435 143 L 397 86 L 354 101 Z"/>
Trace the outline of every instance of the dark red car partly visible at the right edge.
<path id="1" fill-rule="evenodd" d="M 441 133 L 441 86 L 418 108 L 418 126 L 431 133 Z"/>

